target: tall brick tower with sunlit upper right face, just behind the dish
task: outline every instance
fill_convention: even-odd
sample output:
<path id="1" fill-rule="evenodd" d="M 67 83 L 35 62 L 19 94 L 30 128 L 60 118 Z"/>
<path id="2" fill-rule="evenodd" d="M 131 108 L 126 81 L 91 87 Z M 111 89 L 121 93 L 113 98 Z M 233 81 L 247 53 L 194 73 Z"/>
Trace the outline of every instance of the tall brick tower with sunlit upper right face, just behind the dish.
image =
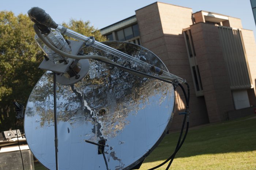
<path id="1" fill-rule="evenodd" d="M 188 54 L 182 29 L 192 25 L 192 9 L 154 3 L 136 11 L 143 47 L 154 52 L 165 63 L 168 70 L 187 80 L 191 86 L 191 126 L 208 123 L 208 115 L 204 97 L 196 97 Z M 175 115 L 170 130 L 179 129 L 184 111 L 184 97 L 177 88 Z"/>

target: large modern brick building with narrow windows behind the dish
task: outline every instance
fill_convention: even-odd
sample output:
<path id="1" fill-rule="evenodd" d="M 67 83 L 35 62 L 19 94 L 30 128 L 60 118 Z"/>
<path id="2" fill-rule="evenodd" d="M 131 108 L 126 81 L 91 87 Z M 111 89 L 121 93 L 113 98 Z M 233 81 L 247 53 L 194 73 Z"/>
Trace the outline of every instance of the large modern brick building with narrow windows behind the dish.
<path id="1" fill-rule="evenodd" d="M 102 28 L 109 40 L 129 41 L 154 52 L 169 72 L 191 86 L 191 126 L 253 114 L 256 44 L 238 18 L 156 2 Z M 181 91 L 170 129 L 180 127 Z"/>

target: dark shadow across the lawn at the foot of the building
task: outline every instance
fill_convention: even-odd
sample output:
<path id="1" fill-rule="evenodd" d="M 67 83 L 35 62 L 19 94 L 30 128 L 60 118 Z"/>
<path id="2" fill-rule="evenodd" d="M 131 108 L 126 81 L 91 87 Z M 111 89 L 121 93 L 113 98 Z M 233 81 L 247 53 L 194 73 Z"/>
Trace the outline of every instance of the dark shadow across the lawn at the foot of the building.
<path id="1" fill-rule="evenodd" d="M 167 159 L 177 145 L 180 133 L 166 135 L 144 162 Z M 256 150 L 256 119 L 239 119 L 210 124 L 189 130 L 187 138 L 175 158 L 202 154 L 244 152 Z"/>

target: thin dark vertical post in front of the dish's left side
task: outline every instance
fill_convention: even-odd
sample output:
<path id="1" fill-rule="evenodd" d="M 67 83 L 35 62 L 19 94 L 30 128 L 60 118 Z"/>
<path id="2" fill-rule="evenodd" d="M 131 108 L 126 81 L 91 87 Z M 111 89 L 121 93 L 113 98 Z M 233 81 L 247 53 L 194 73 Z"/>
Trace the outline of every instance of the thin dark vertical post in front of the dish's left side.
<path id="1" fill-rule="evenodd" d="M 57 134 L 57 108 L 56 108 L 56 72 L 53 72 L 53 104 L 54 104 L 55 162 L 56 162 L 56 170 L 58 170 L 58 134 Z"/>

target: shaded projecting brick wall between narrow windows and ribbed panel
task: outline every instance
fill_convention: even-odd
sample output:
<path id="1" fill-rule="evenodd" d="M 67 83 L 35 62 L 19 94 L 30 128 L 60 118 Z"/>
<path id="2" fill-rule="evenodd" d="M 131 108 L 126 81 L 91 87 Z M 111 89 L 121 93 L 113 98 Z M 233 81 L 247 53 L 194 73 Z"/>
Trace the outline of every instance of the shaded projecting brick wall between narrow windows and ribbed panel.
<path id="1" fill-rule="evenodd" d="M 210 123 L 226 119 L 234 110 L 229 79 L 222 54 L 218 28 L 211 24 L 191 25 L 197 64 L 202 79 Z"/>

